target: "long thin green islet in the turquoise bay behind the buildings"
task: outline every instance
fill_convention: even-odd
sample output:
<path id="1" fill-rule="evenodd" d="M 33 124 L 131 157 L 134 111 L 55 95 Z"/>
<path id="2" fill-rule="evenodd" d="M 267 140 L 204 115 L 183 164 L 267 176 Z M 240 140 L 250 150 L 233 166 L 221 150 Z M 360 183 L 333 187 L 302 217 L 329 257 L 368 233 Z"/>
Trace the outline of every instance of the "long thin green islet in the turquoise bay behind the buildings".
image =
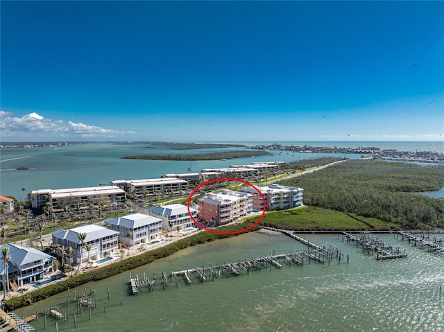
<path id="1" fill-rule="evenodd" d="M 245 158 L 245 157 L 256 157 L 268 154 L 269 153 L 266 151 L 242 150 L 242 151 L 200 153 L 197 155 L 133 155 L 133 156 L 122 157 L 122 159 L 194 161 L 194 160 L 235 159 L 235 158 Z"/>

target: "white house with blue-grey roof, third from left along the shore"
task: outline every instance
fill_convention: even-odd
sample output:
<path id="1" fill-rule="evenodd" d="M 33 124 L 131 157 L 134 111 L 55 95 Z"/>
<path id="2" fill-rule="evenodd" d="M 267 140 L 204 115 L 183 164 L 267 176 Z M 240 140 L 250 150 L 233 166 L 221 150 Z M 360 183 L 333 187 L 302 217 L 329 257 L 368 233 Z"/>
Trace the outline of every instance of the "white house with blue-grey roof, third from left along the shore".
<path id="1" fill-rule="evenodd" d="M 108 218 L 105 223 L 111 225 L 111 229 L 114 231 L 118 231 L 119 241 L 129 247 L 139 243 L 148 243 L 162 236 L 162 219 L 143 213 Z"/>

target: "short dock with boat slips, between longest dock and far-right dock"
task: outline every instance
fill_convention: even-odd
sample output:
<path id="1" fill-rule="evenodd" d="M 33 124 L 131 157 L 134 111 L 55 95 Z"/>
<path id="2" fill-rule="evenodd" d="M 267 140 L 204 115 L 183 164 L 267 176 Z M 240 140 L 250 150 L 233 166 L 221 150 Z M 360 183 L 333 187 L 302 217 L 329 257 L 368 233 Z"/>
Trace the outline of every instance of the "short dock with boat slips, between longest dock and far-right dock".
<path id="1" fill-rule="evenodd" d="M 352 235 L 346 231 L 342 232 L 343 241 L 346 239 L 348 243 L 355 243 L 362 247 L 363 252 L 376 252 L 376 259 L 399 259 L 407 257 L 407 252 L 402 252 L 399 247 L 393 248 L 391 244 L 385 243 L 373 234 L 362 232 L 359 236 Z M 391 250 L 388 252 L 388 249 Z"/>

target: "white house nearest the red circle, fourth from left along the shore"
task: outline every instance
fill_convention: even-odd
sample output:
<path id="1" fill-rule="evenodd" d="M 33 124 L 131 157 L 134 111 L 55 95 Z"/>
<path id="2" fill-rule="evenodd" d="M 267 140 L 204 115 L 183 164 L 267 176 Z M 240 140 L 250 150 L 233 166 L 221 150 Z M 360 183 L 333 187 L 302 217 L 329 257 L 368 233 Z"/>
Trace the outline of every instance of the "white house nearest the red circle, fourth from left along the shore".
<path id="1" fill-rule="evenodd" d="M 187 229 L 191 227 L 196 227 L 196 224 L 191 219 L 193 216 L 194 220 L 197 218 L 197 210 L 192 207 L 188 209 L 185 205 L 182 204 L 169 204 L 164 207 L 151 207 L 148 212 L 151 216 L 156 216 L 157 218 L 162 219 L 162 228 L 167 229 L 168 231 L 177 229 L 179 226 L 180 229 Z M 170 223 L 172 227 L 170 227 Z"/>

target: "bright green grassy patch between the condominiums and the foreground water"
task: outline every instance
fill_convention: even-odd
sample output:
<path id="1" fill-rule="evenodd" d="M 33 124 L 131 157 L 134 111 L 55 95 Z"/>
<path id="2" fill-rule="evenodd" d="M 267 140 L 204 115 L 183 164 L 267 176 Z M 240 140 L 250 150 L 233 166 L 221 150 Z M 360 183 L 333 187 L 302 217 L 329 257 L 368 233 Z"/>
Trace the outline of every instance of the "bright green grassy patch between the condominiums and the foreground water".
<path id="1" fill-rule="evenodd" d="M 250 221 L 254 219 L 248 218 Z M 321 207 L 298 207 L 282 211 L 269 211 L 259 225 L 300 230 L 388 230 L 399 228 L 399 225 L 395 223 L 384 222 L 376 218 L 348 215 Z"/>

